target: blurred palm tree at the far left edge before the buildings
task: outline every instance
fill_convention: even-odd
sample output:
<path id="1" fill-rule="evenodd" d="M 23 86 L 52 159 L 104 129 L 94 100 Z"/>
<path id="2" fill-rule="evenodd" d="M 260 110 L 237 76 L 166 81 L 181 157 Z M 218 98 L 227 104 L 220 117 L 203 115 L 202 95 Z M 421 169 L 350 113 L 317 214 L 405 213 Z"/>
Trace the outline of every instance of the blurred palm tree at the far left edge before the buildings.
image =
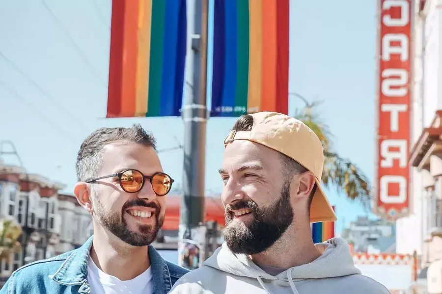
<path id="1" fill-rule="evenodd" d="M 12 253 L 21 250 L 21 245 L 17 241 L 21 234 L 22 228 L 16 221 L 0 220 L 0 259 L 9 259 Z"/>

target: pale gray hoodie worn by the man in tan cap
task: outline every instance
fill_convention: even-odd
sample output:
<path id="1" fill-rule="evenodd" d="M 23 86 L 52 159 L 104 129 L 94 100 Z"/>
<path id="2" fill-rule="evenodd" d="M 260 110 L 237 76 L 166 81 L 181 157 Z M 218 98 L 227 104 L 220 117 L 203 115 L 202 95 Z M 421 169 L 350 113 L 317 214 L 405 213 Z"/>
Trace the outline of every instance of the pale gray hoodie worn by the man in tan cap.
<path id="1" fill-rule="evenodd" d="M 179 279 L 170 294 L 389 294 L 354 266 L 345 240 L 316 244 L 315 261 L 273 276 L 223 244 L 204 266 Z M 284 254 L 281 252 L 281 254 Z"/>

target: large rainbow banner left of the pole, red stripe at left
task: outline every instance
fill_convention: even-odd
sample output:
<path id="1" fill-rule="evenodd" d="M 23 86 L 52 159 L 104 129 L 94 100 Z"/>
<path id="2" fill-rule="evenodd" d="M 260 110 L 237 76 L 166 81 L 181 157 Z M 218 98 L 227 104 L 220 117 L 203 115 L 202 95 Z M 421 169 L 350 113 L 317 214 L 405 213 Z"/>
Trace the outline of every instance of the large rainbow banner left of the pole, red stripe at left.
<path id="1" fill-rule="evenodd" d="M 180 116 L 186 0 L 114 0 L 107 117 Z"/>

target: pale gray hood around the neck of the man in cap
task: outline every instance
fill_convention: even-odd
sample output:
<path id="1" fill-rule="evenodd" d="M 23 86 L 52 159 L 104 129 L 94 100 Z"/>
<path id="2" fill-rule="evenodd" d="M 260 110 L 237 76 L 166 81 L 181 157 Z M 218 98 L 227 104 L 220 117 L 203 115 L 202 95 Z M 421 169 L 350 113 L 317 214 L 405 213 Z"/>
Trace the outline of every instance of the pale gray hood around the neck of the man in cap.
<path id="1" fill-rule="evenodd" d="M 294 280 L 332 278 L 361 273 L 354 266 L 350 247 L 345 240 L 333 238 L 315 246 L 322 253 L 319 258 L 309 264 L 287 269 L 276 276 L 259 268 L 247 255 L 233 253 L 225 243 L 204 262 L 204 265 L 237 276 L 255 278 L 268 293 L 271 292 L 266 289 L 263 279 L 288 282 L 293 293 L 297 294 Z"/>

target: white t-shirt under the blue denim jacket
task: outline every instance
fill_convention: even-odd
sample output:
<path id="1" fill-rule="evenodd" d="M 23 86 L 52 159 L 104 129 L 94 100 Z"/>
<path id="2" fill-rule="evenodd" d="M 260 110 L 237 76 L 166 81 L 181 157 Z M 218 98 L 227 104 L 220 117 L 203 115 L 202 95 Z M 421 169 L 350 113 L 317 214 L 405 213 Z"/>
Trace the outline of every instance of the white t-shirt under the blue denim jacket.
<path id="1" fill-rule="evenodd" d="M 152 294 L 152 271 L 150 268 L 132 280 L 120 281 L 100 270 L 89 258 L 87 282 L 92 294 Z"/>

